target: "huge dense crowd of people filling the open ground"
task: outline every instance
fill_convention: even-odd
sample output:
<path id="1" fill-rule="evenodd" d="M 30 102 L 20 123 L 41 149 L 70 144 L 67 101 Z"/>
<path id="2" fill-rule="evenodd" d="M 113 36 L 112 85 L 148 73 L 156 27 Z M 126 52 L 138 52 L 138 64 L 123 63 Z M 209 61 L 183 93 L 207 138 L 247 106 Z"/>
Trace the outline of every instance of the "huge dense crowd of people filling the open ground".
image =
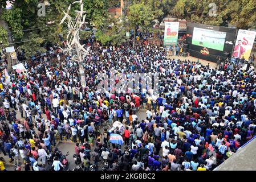
<path id="1" fill-rule="evenodd" d="M 7 163 L 3 155 L 16 167 L 45 170 L 57 138 L 75 143 L 71 152 L 86 170 L 104 164 L 112 171 L 206 171 L 255 135 L 253 65 L 243 70 L 225 61 L 214 69 L 170 59 L 164 49 L 150 45 L 91 47 L 83 61 L 83 87 L 79 64 L 71 58 L 51 64 L 50 55 L 36 57 L 25 72 L 13 71 L 10 81 L 1 76 L 1 171 Z M 139 93 L 99 92 L 99 73 L 110 71 L 159 76 L 159 94 L 141 84 Z M 123 133 L 101 127 L 115 121 L 123 123 Z M 109 142 L 113 133 L 122 135 L 124 144 Z M 62 164 L 54 161 L 54 170 L 60 170 Z"/>

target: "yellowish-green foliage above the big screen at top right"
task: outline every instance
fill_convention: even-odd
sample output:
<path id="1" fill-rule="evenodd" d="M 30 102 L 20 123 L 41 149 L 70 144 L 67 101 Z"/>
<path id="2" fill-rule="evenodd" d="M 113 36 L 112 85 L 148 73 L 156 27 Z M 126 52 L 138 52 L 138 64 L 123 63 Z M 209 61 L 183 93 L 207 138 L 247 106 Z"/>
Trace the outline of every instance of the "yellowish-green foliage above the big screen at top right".
<path id="1" fill-rule="evenodd" d="M 209 16 L 210 3 L 216 3 L 217 16 Z M 178 0 L 174 7 L 177 18 L 185 18 L 189 22 L 227 26 L 234 24 L 238 28 L 255 28 L 255 0 Z"/>

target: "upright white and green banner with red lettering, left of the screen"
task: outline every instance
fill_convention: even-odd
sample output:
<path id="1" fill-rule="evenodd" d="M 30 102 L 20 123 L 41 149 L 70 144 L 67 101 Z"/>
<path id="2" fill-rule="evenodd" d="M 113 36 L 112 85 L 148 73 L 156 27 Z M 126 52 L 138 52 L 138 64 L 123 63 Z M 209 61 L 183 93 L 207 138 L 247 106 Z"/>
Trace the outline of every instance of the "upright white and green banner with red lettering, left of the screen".
<path id="1" fill-rule="evenodd" d="M 164 46 L 176 46 L 178 44 L 179 22 L 165 22 Z"/>

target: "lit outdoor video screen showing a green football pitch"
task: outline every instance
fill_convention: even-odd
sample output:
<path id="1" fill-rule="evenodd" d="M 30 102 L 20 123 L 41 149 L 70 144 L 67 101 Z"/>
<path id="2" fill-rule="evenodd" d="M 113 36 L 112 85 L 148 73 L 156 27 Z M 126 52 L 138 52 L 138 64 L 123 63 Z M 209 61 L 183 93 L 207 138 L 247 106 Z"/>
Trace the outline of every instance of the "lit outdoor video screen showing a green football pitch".
<path id="1" fill-rule="evenodd" d="M 194 27 L 192 44 L 223 51 L 225 39 L 226 32 Z"/>

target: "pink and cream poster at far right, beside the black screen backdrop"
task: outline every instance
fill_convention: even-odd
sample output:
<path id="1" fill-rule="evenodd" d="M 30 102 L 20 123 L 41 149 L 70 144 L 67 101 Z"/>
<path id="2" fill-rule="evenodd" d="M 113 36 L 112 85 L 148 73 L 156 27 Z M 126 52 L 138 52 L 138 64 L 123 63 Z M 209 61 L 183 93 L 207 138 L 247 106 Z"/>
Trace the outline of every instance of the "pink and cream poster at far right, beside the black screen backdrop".
<path id="1" fill-rule="evenodd" d="M 254 31 L 239 29 L 237 40 L 235 42 L 233 56 L 239 59 L 244 57 L 245 60 L 249 60 L 255 36 L 256 32 Z"/>

